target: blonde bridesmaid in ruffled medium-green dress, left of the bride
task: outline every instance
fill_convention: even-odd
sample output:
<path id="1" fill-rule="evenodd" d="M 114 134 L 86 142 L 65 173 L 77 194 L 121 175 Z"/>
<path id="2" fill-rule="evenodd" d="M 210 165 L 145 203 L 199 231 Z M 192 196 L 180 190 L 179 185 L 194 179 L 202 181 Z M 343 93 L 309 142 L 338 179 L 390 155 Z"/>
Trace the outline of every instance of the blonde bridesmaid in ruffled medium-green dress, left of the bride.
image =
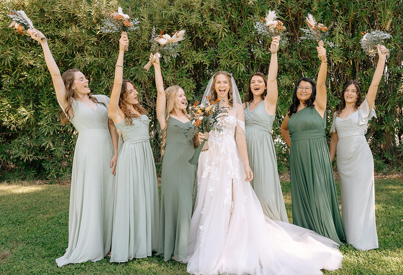
<path id="1" fill-rule="evenodd" d="M 150 56 L 153 59 L 154 55 Z M 157 119 L 162 129 L 160 245 L 158 256 L 183 261 L 187 256 L 187 239 L 194 206 L 196 165 L 189 159 L 197 138 L 191 139 L 194 126 L 186 112 L 185 92 L 179 86 L 170 86 L 164 92 L 158 56 L 153 63 L 157 86 Z"/>

